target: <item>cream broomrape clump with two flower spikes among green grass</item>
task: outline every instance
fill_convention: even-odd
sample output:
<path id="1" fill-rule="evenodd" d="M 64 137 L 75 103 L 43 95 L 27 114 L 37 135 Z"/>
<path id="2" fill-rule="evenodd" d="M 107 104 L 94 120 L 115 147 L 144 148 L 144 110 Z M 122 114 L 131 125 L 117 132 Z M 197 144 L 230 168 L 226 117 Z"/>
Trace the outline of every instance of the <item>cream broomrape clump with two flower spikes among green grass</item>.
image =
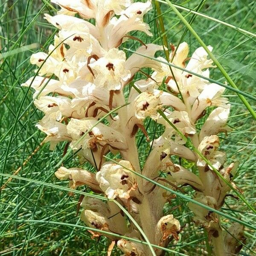
<path id="1" fill-rule="evenodd" d="M 31 56 L 31 63 L 40 70 L 38 76 L 23 86 L 31 84 L 35 90 L 35 106 L 44 113 L 36 126 L 47 134 L 45 142 L 50 142 L 50 149 L 65 142 L 64 153 L 68 147 L 78 151 L 80 163 L 89 162 L 97 170 L 94 173 L 61 166 L 55 176 L 69 180 L 72 189 L 86 186 L 111 199 L 107 202 L 87 197 L 79 199 L 81 220 L 98 230 L 91 232 L 93 237 L 103 236 L 101 231 L 106 231 L 141 241 L 146 237 L 151 244 L 167 247 L 173 239 L 179 239 L 184 224 L 181 225 L 177 216 L 170 212 L 163 214 L 163 207 L 172 204 L 175 196 L 134 172 L 172 190 L 183 192 L 181 186 L 190 186 L 195 190 L 195 201 L 217 210 L 229 195 L 230 186 L 219 179 L 212 166 L 237 188 L 232 177 L 238 164 L 227 165 L 226 154 L 219 150 L 218 134 L 229 131 L 226 123 L 230 104 L 222 97 L 224 88 L 194 75 L 209 78 L 213 62 L 202 47 L 189 57 L 186 42 L 177 49 L 171 45 L 170 56 L 171 64 L 185 68 L 186 72 L 177 68 L 172 68 L 171 72 L 169 65 L 160 62 L 165 61 L 162 57 L 157 58 L 159 61 L 150 59 L 163 47 L 144 44 L 141 38 L 129 35 L 136 31 L 152 35 L 144 22 L 144 16 L 152 9 L 149 0 L 145 3 L 52 0 L 52 3 L 61 9 L 55 16 L 45 14 L 45 19 L 59 29 L 58 36 L 55 35 L 54 43 L 49 46 L 49 54 L 38 52 Z M 91 19 L 93 23 L 89 22 Z M 131 39 L 142 45 L 127 58 L 119 47 Z M 213 50 L 211 46 L 208 49 Z M 151 75 L 141 70 L 144 67 L 151 69 Z M 137 72 L 147 78 L 134 81 L 137 90 L 131 88 L 129 104 L 125 104 L 124 88 Z M 165 91 L 159 89 L 163 85 Z M 114 114 L 113 109 L 117 109 Z M 159 110 L 173 127 L 158 114 Z M 203 122 L 201 118 L 210 111 L 198 131 L 198 119 Z M 106 114 L 104 122 L 99 122 Z M 165 131 L 151 141 L 152 150 L 141 170 L 135 137 L 140 129 L 150 142 L 144 127 L 146 118 L 163 125 Z M 198 157 L 184 138 L 189 139 L 204 157 Z M 116 163 L 106 162 L 104 155 L 108 152 L 119 153 Z M 182 161 L 173 163 L 171 156 L 192 161 L 198 175 L 182 166 Z M 113 199 L 127 209 L 138 225 L 128 224 L 124 212 Z M 245 242 L 240 224 L 231 225 L 229 233 L 225 233 L 216 213 L 192 203 L 189 208 L 195 215 L 195 224 L 207 230 L 215 255 L 239 253 L 238 241 Z M 115 243 L 125 256 L 163 255 L 159 248 L 153 250 L 146 244 L 116 240 L 116 236 L 106 235 L 106 232 L 104 236 L 112 240 L 109 250 Z"/>

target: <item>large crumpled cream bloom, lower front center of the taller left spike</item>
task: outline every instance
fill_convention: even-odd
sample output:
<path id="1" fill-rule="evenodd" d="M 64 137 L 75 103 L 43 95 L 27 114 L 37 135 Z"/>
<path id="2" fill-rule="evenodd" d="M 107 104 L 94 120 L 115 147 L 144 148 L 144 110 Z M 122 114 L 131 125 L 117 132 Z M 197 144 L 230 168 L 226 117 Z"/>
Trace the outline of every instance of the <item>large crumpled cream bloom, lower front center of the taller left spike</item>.
<path id="1" fill-rule="evenodd" d="M 97 172 L 96 179 L 108 198 L 128 199 L 131 197 L 130 193 L 137 188 L 137 182 L 135 174 L 129 170 L 133 170 L 131 163 L 120 160 L 119 164 L 105 163 Z"/>

